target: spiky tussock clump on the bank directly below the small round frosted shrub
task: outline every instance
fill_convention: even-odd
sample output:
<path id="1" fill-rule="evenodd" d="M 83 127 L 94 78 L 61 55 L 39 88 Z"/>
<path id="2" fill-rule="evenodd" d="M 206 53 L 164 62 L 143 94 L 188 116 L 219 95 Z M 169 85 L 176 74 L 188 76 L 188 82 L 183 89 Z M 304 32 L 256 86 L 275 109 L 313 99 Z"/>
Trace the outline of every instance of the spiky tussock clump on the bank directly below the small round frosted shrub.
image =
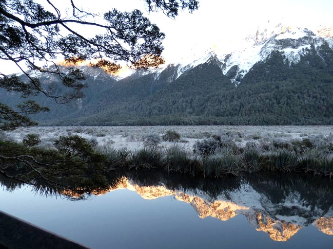
<path id="1" fill-rule="evenodd" d="M 163 153 L 152 148 L 143 148 L 132 152 L 129 165 L 134 169 L 152 169 L 162 165 Z"/>

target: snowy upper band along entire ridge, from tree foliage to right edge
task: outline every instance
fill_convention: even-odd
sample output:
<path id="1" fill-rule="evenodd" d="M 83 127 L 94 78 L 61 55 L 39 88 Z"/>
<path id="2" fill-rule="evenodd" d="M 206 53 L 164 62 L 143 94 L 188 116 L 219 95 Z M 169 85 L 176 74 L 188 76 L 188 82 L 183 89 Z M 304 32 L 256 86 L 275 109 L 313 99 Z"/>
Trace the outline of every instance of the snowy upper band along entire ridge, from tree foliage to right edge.
<path id="1" fill-rule="evenodd" d="M 289 66 L 297 64 L 301 56 L 310 53 L 312 49 L 316 53 L 321 46 L 328 45 L 333 49 L 333 28 L 319 26 L 315 33 L 307 28 L 288 26 L 283 23 L 273 25 L 267 23 L 265 27 L 258 27 L 252 34 L 239 42 L 238 48 L 228 53 L 219 53 L 215 49 L 207 49 L 203 54 L 194 53 L 193 56 L 180 59 L 177 64 L 164 64 L 157 69 L 134 70 L 122 65 L 120 71 L 107 74 L 98 68 L 89 67 L 89 64 L 77 65 L 87 75 L 96 79 L 98 76 L 104 79 L 112 78 L 117 81 L 126 77 L 141 77 L 154 74 L 158 79 L 160 73 L 168 67 L 175 67 L 175 77 L 189 71 L 196 66 L 214 62 L 237 85 L 241 79 L 251 70 L 257 62 L 264 62 L 272 52 L 279 52 L 285 56 L 285 63 Z M 193 51 L 196 49 L 194 48 Z M 66 66 L 59 63 L 60 67 Z M 39 75 L 33 75 L 39 76 Z"/>

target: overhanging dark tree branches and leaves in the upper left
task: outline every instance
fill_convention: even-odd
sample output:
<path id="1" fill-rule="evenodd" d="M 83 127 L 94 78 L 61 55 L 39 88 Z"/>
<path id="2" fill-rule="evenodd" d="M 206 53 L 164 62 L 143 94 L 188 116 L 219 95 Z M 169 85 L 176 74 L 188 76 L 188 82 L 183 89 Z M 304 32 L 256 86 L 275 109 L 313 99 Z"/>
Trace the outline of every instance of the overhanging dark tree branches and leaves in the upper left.
<path id="1" fill-rule="evenodd" d="M 171 18 L 177 16 L 179 9 L 192 12 L 198 8 L 197 0 L 144 2 L 149 12 L 163 11 Z M 0 59 L 14 62 L 24 75 L 22 78 L 0 72 L 0 88 L 19 92 L 24 98 L 43 93 L 57 103 L 68 103 L 83 96 L 85 76 L 75 66 L 62 71 L 54 62 L 59 57 L 73 65 L 97 59 L 92 66 L 108 72 L 118 71 L 120 61 L 136 69 L 157 67 L 164 62 L 160 57 L 164 34 L 139 10 L 112 9 L 103 15 L 104 21 L 97 23 L 89 21 L 96 14 L 79 9 L 73 0 L 68 0 L 68 4 L 69 11 L 62 13 L 55 0 L 46 0 L 44 5 L 36 0 L 0 1 Z M 93 37 L 83 35 L 80 31 L 86 26 L 101 33 Z M 61 91 L 40 84 L 34 75 L 44 72 L 59 76 Z M 32 100 L 18 107 L 0 102 L 0 130 L 35 125 L 26 114 L 47 110 Z"/>

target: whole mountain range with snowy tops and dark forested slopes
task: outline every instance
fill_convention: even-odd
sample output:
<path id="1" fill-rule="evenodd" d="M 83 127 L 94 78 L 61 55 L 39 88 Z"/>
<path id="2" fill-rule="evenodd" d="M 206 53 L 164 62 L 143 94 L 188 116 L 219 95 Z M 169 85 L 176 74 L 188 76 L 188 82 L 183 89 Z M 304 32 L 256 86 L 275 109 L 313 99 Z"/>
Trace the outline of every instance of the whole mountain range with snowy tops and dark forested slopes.
<path id="1" fill-rule="evenodd" d="M 333 125 L 333 38 L 277 25 L 244 42 L 227 55 L 208 52 L 125 78 L 86 67 L 85 98 L 69 107 L 38 96 L 51 111 L 34 118 L 44 125 Z"/>

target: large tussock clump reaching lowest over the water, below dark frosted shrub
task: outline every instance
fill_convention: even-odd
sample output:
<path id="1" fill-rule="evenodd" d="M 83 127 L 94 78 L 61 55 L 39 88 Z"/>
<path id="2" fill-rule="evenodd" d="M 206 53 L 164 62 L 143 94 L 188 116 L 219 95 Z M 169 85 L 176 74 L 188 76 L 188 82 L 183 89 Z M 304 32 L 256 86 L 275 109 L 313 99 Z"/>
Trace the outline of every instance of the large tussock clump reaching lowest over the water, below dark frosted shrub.
<path id="1" fill-rule="evenodd" d="M 229 149 L 223 149 L 221 153 L 208 155 L 202 158 L 205 177 L 221 177 L 223 175 L 237 175 L 241 170 L 241 159 Z"/>

